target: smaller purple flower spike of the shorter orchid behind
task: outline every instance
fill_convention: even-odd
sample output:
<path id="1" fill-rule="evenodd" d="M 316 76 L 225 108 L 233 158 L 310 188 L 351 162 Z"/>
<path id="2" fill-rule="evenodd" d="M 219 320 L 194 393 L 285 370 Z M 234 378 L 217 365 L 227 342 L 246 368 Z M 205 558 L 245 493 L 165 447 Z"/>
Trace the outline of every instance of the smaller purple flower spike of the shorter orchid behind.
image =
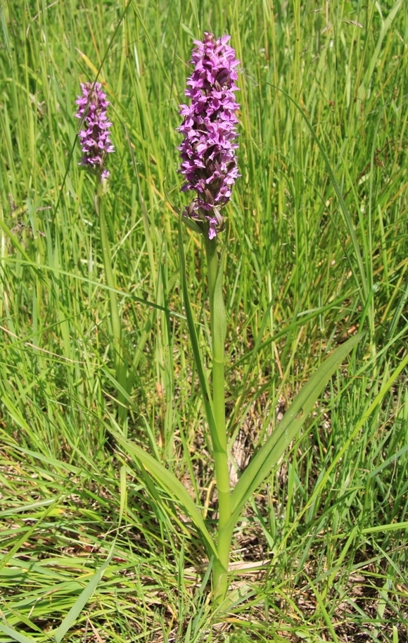
<path id="1" fill-rule="evenodd" d="M 106 94 L 102 92 L 100 82 L 81 83 L 82 96 L 78 96 L 75 103 L 78 111 L 75 114 L 81 120 L 82 129 L 78 136 L 82 147 L 82 161 L 79 165 L 90 166 L 94 173 L 101 176 L 105 181 L 109 172 L 105 168 L 106 156 L 114 152 L 115 148 L 110 142 L 109 122 L 106 116 L 106 108 L 109 101 Z"/>

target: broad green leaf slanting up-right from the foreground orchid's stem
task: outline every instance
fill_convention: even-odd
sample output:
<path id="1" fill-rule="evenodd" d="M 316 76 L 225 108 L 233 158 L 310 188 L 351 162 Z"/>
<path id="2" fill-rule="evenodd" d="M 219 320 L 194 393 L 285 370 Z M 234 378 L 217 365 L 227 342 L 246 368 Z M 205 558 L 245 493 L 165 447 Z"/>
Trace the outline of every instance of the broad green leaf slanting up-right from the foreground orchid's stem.
<path id="1" fill-rule="evenodd" d="M 279 461 L 279 458 L 291 444 L 298 433 L 298 430 L 305 422 L 307 415 L 312 411 L 315 401 L 324 390 L 331 375 L 343 361 L 343 359 L 354 348 L 362 335 L 355 335 L 342 344 L 336 351 L 326 358 L 317 371 L 310 377 L 310 380 L 300 390 L 286 411 L 285 416 L 267 442 L 260 448 L 250 461 L 248 467 L 238 480 L 231 497 L 231 511 L 233 518 L 238 520 L 242 508 L 251 495 L 262 484 L 269 475 L 272 467 Z"/>

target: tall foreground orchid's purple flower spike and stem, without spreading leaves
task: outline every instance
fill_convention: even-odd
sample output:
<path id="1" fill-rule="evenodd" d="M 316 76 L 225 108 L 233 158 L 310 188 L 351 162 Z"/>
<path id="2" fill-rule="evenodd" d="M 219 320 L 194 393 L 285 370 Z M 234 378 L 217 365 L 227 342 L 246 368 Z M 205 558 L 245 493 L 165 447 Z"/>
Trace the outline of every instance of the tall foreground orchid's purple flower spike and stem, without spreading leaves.
<path id="1" fill-rule="evenodd" d="M 212 335 L 212 394 L 207 405 L 207 420 L 212 438 L 215 479 L 218 492 L 217 556 L 212 563 L 213 592 L 216 601 L 227 592 L 229 552 L 231 549 L 231 490 L 224 396 L 224 344 L 227 333 L 222 296 L 222 254 L 217 240 L 224 230 L 222 208 L 228 203 L 239 176 L 236 160 L 238 103 L 235 99 L 239 61 L 229 46 L 230 36 L 215 38 L 206 32 L 203 42 L 196 41 L 191 62 L 192 75 L 187 80 L 186 96 L 190 105 L 181 105 L 184 116 L 179 132 L 184 135 L 179 146 L 180 172 L 186 178 L 181 188 L 193 190 L 196 197 L 184 211 L 186 223 L 201 232 L 208 263 L 208 289 Z M 192 328 L 190 333 L 195 332 Z"/>

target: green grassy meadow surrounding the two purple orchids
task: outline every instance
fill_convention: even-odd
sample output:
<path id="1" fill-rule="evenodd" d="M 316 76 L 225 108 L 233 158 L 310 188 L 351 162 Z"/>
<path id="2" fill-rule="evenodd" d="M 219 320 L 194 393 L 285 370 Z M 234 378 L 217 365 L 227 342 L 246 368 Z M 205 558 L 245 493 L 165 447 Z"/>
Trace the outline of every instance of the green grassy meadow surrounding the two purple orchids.
<path id="1" fill-rule="evenodd" d="M 53 639 L 110 553 L 64 641 L 407 642 L 407 2 L 2 0 L 0 11 L 0 642 Z M 239 523 L 236 601 L 216 614 L 194 530 L 110 435 L 119 396 L 129 438 L 177 473 L 211 525 L 177 249 L 189 202 L 178 110 L 205 31 L 231 34 L 241 61 L 224 278 L 231 477 L 321 359 L 364 332 Z M 127 391 L 94 180 L 78 165 L 75 99 L 99 69 Z M 183 235 L 205 352 L 203 248 Z"/>

